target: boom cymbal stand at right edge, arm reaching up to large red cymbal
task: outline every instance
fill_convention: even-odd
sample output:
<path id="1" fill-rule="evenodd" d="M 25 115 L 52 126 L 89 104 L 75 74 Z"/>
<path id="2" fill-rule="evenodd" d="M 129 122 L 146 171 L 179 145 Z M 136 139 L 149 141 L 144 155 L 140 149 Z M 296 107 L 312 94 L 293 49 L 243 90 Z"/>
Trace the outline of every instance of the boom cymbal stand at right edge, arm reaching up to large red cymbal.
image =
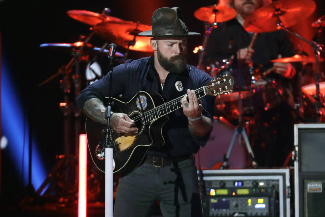
<path id="1" fill-rule="evenodd" d="M 277 9 L 276 9 L 277 10 Z M 278 16 L 278 21 L 277 21 L 277 26 L 281 27 L 282 29 L 288 31 L 289 33 L 297 36 L 298 38 L 302 39 L 303 41 L 305 41 L 306 43 L 308 43 L 314 50 L 315 53 L 315 57 L 316 57 L 316 71 L 315 71 L 315 85 L 316 85 L 316 103 L 315 103 L 315 109 L 316 109 L 316 115 L 317 115 L 317 122 L 321 122 L 321 117 L 320 117 L 320 113 L 321 113 L 321 108 L 322 108 L 322 103 L 320 102 L 320 90 L 319 90 L 319 80 L 320 80 L 320 72 L 319 72 L 319 57 L 320 57 L 320 53 L 323 53 L 323 55 L 325 54 L 325 46 L 322 44 L 317 43 L 316 41 L 308 41 L 307 39 L 305 39 L 304 37 L 302 37 L 301 35 L 292 32 L 291 30 L 289 30 L 286 26 L 284 26 L 280 20 L 279 14 L 276 13 Z M 321 28 L 320 28 L 321 31 Z M 319 34 L 319 31 L 318 31 Z"/>

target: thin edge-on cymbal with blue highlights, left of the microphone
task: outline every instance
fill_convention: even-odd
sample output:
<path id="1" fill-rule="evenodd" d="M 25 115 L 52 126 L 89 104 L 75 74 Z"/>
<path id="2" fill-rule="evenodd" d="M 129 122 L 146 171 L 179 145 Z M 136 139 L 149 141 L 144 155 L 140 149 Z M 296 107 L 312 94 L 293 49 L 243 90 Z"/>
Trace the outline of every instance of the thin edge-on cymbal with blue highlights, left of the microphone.
<path id="1" fill-rule="evenodd" d="M 77 41 L 75 43 L 45 43 L 45 44 L 41 44 L 40 47 L 50 47 L 53 49 L 60 49 L 60 50 L 65 50 L 65 51 L 71 52 L 72 49 L 79 50 L 83 45 L 84 45 L 84 42 Z M 89 54 L 89 53 L 95 53 L 96 51 L 99 51 L 100 49 L 101 49 L 100 47 L 94 47 L 91 44 L 87 43 L 86 46 L 83 48 L 83 51 L 86 54 Z M 104 49 L 102 52 L 107 53 L 108 50 Z M 124 57 L 124 55 L 120 52 L 116 52 L 115 56 L 116 57 Z"/>

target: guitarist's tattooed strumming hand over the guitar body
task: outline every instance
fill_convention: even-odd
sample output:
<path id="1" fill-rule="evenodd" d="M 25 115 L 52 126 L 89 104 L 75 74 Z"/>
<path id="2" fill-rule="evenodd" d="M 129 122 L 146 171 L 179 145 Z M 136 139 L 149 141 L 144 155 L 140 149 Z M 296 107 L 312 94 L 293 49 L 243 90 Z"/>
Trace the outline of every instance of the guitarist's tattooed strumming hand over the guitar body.
<path id="1" fill-rule="evenodd" d="M 137 134 L 139 129 L 134 127 L 135 121 L 123 113 L 114 113 L 110 117 L 110 126 L 120 134 Z"/>

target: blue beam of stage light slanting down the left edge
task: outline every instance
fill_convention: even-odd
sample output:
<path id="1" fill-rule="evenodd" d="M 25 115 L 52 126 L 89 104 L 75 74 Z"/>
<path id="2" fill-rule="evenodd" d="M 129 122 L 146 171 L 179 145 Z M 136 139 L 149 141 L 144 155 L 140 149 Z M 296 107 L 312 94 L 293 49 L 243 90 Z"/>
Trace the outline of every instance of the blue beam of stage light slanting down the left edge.
<path id="1" fill-rule="evenodd" d="M 7 150 L 17 168 L 19 178 L 28 184 L 28 121 L 20 104 L 16 82 L 6 68 L 4 55 L 1 56 L 1 134 L 7 138 Z M 25 121 L 24 121 L 25 118 Z M 24 146 L 25 144 L 25 146 Z M 32 142 L 32 184 L 37 189 L 45 179 L 44 163 L 41 162 L 35 142 Z M 23 150 L 24 149 L 24 150 Z M 24 156 L 23 156 L 24 154 Z M 22 162 L 22 159 L 24 160 Z M 23 166 L 22 166 L 23 165 Z M 22 172 L 24 172 L 22 174 Z M 21 177 L 21 175 L 23 177 Z"/>

